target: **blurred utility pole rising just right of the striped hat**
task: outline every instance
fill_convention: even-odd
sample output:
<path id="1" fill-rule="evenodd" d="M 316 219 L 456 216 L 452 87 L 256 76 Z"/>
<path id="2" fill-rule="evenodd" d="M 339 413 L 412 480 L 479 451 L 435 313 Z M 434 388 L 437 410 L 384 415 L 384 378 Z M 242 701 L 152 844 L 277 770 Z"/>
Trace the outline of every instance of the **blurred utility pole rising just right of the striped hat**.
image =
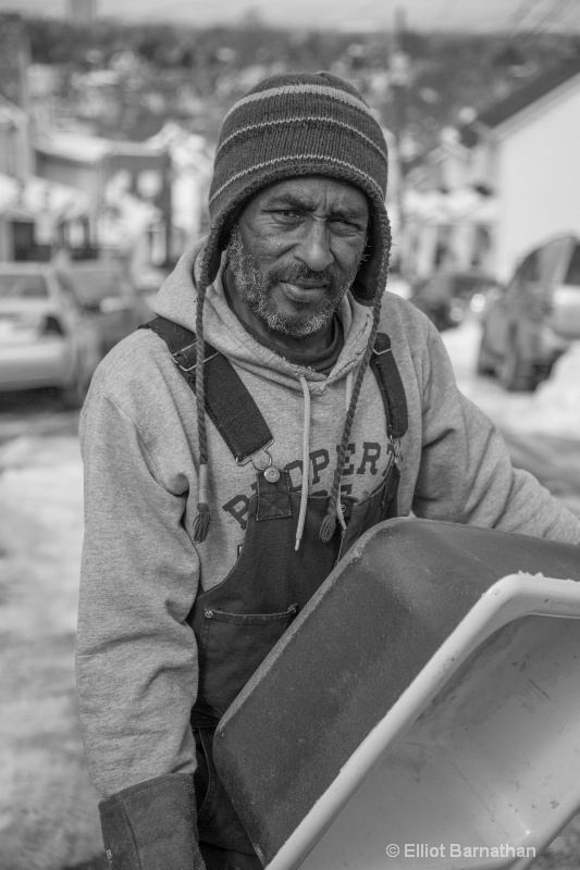
<path id="1" fill-rule="evenodd" d="M 407 95 L 409 87 L 409 57 L 405 52 L 405 30 L 406 18 L 403 7 L 395 8 L 395 29 L 393 37 L 393 51 L 390 58 L 390 83 L 393 95 L 393 119 L 395 137 L 395 162 L 397 169 L 397 210 L 398 210 L 398 233 L 400 235 L 400 247 L 405 249 L 405 184 L 404 184 L 404 162 L 402 158 L 403 138 L 407 126 Z M 405 257 L 403 265 L 405 265 Z"/>

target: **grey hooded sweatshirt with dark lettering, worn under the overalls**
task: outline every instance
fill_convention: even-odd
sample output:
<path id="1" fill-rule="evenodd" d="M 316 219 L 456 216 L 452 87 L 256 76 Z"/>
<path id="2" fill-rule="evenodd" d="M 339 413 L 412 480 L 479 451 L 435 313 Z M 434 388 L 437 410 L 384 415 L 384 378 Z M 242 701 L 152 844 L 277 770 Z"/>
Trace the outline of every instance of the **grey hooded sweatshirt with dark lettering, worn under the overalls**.
<path id="1" fill-rule="evenodd" d="M 195 250 L 161 288 L 157 311 L 195 331 Z M 222 262 L 222 271 L 223 271 Z M 308 493 L 330 492 L 353 377 L 372 325 L 350 295 L 340 318 L 344 348 L 326 377 L 258 344 L 227 307 L 222 271 L 208 288 L 205 336 L 233 363 L 272 434 L 272 461 Z M 580 543 L 580 521 L 527 472 L 511 468 L 494 425 L 458 390 L 430 321 L 385 293 L 381 331 L 392 340 L 405 386 L 399 514 Z M 308 394 L 308 395 L 307 395 Z M 308 401 L 309 399 L 309 401 Z M 77 685 L 86 756 L 106 795 L 196 766 L 189 713 L 197 647 L 185 621 L 198 588 L 226 577 L 244 540 L 255 485 L 208 419 L 206 540 L 194 544 L 198 437 L 194 395 L 164 343 L 138 331 L 100 364 L 81 418 L 85 543 Z M 388 462 L 383 403 L 365 375 L 342 492 L 363 498 Z"/>

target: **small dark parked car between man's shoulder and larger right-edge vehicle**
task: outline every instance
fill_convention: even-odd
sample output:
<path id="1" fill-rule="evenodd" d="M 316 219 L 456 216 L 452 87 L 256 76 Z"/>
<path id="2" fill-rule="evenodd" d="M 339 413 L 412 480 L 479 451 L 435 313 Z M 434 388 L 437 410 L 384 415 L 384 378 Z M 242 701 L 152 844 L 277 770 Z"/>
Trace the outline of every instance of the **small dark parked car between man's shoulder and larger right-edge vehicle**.
<path id="1" fill-rule="evenodd" d="M 478 270 L 442 269 L 414 287 L 411 302 L 440 332 L 458 326 L 474 296 L 489 291 L 495 279 Z"/>

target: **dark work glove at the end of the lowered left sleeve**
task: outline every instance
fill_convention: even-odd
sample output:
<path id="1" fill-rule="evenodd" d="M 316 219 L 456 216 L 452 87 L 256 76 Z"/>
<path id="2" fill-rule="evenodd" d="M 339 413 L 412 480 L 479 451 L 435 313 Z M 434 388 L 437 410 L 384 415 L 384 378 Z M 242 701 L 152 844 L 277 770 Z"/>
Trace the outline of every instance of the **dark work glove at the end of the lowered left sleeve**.
<path id="1" fill-rule="evenodd" d="M 194 778 L 169 773 L 99 804 L 111 870 L 206 870 L 197 837 Z"/>

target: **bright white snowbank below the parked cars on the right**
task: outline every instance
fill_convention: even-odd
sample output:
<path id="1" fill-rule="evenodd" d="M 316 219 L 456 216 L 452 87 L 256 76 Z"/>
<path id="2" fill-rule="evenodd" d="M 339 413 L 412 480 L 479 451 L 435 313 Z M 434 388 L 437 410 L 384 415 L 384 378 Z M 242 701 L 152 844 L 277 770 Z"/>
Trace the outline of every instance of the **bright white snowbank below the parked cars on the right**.
<path id="1" fill-rule="evenodd" d="M 473 318 L 442 334 L 461 391 L 504 432 L 580 440 L 580 341 L 556 362 L 534 393 L 508 393 L 476 375 L 481 327 Z"/>

